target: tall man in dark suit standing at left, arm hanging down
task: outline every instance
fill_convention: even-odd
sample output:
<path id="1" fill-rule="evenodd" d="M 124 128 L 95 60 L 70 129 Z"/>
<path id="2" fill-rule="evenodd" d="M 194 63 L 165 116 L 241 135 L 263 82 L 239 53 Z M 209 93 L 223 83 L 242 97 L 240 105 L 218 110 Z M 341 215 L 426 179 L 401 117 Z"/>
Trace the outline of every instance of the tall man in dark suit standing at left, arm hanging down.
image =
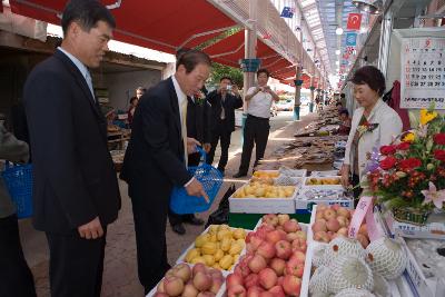
<path id="1" fill-rule="evenodd" d="M 72 0 L 61 26 L 61 47 L 23 91 L 33 225 L 47 235 L 51 296 L 100 296 L 107 225 L 117 219 L 120 194 L 88 68 L 99 67 L 115 19 L 99 1 Z"/>

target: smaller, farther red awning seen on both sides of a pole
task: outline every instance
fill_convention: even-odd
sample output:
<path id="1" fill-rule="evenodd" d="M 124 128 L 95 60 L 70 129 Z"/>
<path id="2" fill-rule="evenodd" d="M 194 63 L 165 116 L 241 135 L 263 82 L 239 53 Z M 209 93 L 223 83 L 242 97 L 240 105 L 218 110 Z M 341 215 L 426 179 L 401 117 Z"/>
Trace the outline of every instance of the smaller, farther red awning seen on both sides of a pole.
<path id="1" fill-rule="evenodd" d="M 244 39 L 244 31 L 239 31 L 205 48 L 204 51 L 216 62 L 239 67 L 239 60 L 245 57 Z M 261 67 L 267 68 L 275 78 L 295 76 L 295 67 L 260 39 L 257 41 L 257 58 L 261 60 Z M 284 73 L 285 70 L 287 73 Z"/>

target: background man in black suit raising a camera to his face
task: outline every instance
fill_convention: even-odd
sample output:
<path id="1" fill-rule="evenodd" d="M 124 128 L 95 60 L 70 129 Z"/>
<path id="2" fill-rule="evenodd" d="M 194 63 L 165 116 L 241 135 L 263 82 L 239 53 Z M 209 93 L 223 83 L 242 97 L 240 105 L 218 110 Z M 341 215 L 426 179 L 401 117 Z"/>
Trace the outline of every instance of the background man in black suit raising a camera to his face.
<path id="1" fill-rule="evenodd" d="M 235 109 L 243 107 L 243 99 L 238 87 L 233 85 L 229 77 L 219 80 L 218 89 L 207 96 L 211 105 L 211 148 L 207 164 L 214 162 L 216 146 L 221 142 L 221 157 L 219 158 L 218 170 L 224 171 L 229 157 L 231 132 L 235 131 Z"/>

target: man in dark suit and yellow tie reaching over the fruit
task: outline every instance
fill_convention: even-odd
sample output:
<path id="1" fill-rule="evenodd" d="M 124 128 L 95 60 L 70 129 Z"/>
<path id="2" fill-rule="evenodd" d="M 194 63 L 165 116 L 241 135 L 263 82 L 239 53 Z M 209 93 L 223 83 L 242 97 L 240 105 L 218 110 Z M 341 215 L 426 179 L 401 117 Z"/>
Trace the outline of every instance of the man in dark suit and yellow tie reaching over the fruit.
<path id="1" fill-rule="evenodd" d="M 139 280 L 148 293 L 170 268 L 166 225 L 174 186 L 192 196 L 208 197 L 187 171 L 187 154 L 199 142 L 187 138 L 187 96 L 202 88 L 210 58 L 197 50 L 179 57 L 176 73 L 150 88 L 135 112 L 122 179 L 128 182 L 135 219 Z"/>

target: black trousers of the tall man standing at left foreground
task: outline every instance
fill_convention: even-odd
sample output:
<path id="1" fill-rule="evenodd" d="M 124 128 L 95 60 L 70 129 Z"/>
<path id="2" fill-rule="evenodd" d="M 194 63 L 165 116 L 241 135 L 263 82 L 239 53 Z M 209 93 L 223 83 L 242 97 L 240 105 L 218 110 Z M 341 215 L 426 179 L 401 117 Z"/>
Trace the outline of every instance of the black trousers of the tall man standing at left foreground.
<path id="1" fill-rule="evenodd" d="M 97 239 L 47 232 L 51 297 L 99 297 L 102 288 L 107 227 Z"/>

